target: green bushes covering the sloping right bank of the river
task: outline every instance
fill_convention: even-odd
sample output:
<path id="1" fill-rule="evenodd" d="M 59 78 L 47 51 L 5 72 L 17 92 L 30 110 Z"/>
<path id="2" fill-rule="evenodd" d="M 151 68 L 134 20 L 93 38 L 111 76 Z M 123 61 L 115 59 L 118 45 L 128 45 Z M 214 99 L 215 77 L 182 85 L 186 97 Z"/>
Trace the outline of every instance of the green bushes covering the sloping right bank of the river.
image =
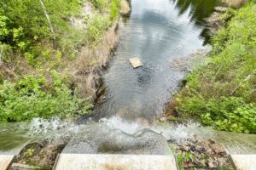
<path id="1" fill-rule="evenodd" d="M 232 13 L 212 38 L 212 53 L 177 94 L 177 110 L 219 130 L 256 133 L 256 6 Z"/>

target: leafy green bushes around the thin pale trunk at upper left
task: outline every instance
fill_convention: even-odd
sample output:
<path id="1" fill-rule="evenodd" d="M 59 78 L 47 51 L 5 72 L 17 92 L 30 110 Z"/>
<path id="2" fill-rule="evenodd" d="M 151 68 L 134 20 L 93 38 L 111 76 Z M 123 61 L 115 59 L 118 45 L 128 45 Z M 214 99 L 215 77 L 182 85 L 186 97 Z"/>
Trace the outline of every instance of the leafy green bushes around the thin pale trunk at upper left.
<path id="1" fill-rule="evenodd" d="M 61 51 L 63 54 L 73 54 L 77 50 L 73 46 L 77 44 L 75 42 L 81 41 L 81 38 L 73 37 L 72 32 L 78 31 L 73 31 L 68 18 L 79 15 L 83 1 L 43 2 L 54 27 L 57 48 L 63 50 Z M 53 35 L 40 1 L 3 0 L 0 2 L 0 8 L 0 42 L 11 46 L 16 53 L 24 54 L 32 65 L 36 64 L 34 60 L 38 57 L 43 58 L 42 52 L 46 49 L 52 50 L 49 56 L 53 55 Z M 64 41 L 69 43 L 62 47 Z"/>

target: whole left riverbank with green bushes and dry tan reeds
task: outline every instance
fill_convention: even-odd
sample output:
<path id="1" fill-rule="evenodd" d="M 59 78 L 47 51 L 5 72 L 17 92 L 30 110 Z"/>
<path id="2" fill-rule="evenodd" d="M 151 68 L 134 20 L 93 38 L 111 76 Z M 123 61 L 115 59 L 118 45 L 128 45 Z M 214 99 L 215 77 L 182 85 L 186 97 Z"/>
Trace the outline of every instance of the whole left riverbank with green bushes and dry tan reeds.
<path id="1" fill-rule="evenodd" d="M 57 3 L 55 6 L 45 3 L 43 14 L 39 4 L 35 4 L 38 15 L 45 21 L 42 23 L 45 32 L 41 32 L 43 28 L 33 27 L 39 20 L 37 15 L 26 20 L 31 16 L 24 14 L 15 20 L 19 12 L 26 13 L 19 3 L 12 4 L 13 13 L 9 3 L 4 5 L 1 22 L 6 32 L 0 35 L 0 122 L 20 122 L 33 117 L 72 118 L 90 112 L 101 86 L 100 70 L 119 39 L 119 16 L 130 13 L 129 3 L 71 1 L 61 4 L 63 9 Z M 29 5 L 24 4 L 24 8 Z M 69 9 L 70 6 L 73 8 Z M 54 38 L 47 32 L 49 26 L 44 14 L 48 13 Z M 14 20 L 15 25 L 10 25 L 9 20 Z M 28 24 L 32 25 L 30 29 L 39 30 L 23 31 Z M 16 25 L 20 26 L 20 37 L 15 37 L 18 36 Z M 19 40 L 12 42 L 11 37 Z M 26 42 L 24 48 L 20 47 Z"/>

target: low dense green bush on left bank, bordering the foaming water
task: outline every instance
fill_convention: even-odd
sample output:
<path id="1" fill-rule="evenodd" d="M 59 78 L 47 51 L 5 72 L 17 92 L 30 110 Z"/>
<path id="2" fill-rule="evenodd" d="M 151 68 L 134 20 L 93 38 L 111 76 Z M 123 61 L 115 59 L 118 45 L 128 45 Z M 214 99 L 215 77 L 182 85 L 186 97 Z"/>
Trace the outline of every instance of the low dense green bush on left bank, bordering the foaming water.
<path id="1" fill-rule="evenodd" d="M 44 77 L 26 76 L 19 82 L 3 82 L 0 85 L 0 122 L 20 122 L 33 117 L 61 118 L 85 114 L 91 105 L 72 95 L 52 71 L 55 86 L 52 91 L 43 89 Z"/>

